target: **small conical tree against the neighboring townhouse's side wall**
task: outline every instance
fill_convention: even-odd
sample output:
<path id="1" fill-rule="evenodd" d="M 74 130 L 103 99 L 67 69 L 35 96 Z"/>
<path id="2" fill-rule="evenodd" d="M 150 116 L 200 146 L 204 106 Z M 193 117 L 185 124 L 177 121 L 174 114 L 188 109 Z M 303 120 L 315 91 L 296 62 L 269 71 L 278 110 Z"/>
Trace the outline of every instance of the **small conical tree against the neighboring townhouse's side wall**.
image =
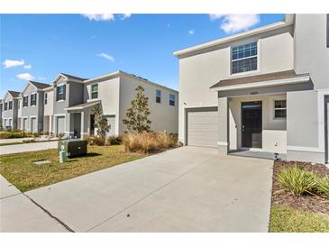
<path id="1" fill-rule="evenodd" d="M 151 114 L 149 110 L 149 98 L 144 95 L 143 87 L 136 87 L 135 91 L 137 94 L 131 102 L 131 107 L 125 114 L 126 118 L 123 119 L 123 123 L 127 125 L 127 129 L 130 132 L 150 132 L 151 121 L 148 119 Z"/>

